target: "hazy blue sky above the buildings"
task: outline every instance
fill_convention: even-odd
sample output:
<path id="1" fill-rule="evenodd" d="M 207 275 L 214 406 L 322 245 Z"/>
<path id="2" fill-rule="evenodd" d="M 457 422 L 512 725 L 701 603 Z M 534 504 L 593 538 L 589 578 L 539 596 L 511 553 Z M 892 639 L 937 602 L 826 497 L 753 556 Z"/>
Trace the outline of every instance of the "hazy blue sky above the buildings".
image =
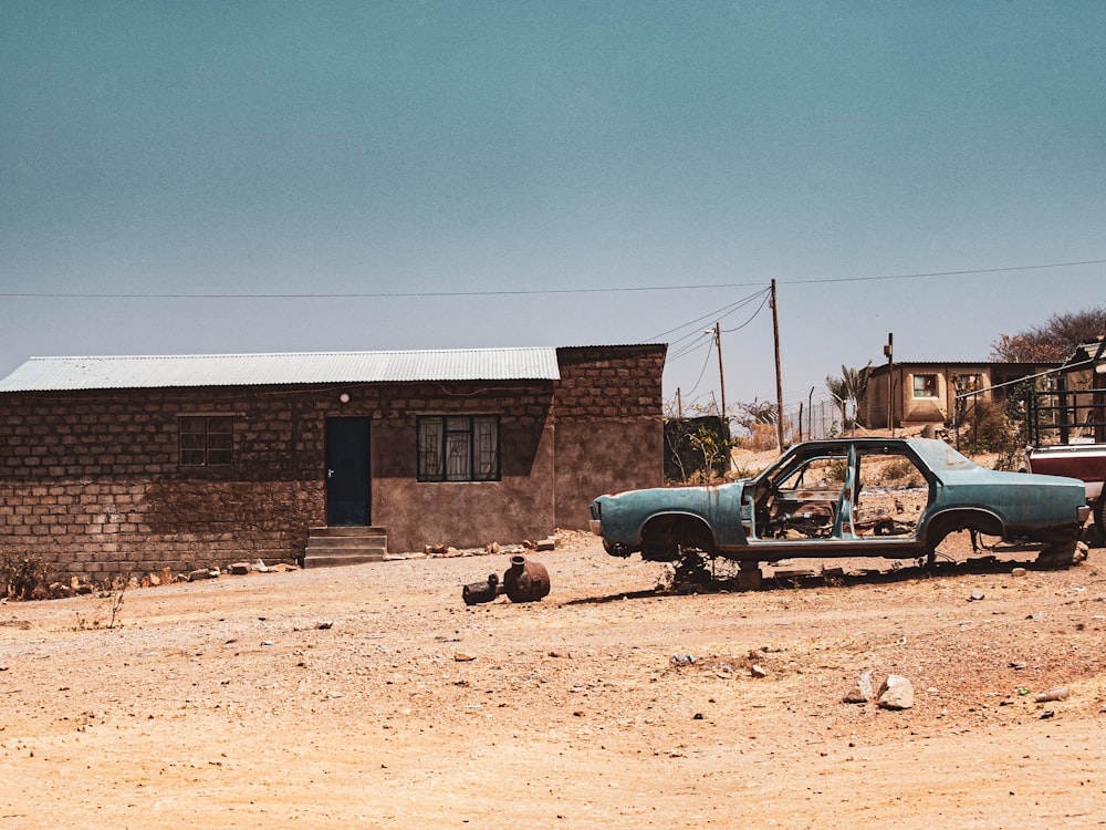
<path id="1" fill-rule="evenodd" d="M 667 342 L 825 397 L 1106 304 L 1106 2 L 0 0 L 30 356 Z M 707 333 L 709 332 L 709 333 Z"/>

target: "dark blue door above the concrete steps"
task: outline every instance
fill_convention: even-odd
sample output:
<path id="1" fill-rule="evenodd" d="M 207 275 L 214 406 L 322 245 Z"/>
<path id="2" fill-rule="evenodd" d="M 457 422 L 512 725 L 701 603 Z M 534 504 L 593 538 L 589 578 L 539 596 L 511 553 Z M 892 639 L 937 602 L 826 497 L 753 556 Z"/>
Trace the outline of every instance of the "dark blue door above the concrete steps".
<path id="1" fill-rule="evenodd" d="M 326 418 L 326 523 L 372 523 L 368 418 Z"/>

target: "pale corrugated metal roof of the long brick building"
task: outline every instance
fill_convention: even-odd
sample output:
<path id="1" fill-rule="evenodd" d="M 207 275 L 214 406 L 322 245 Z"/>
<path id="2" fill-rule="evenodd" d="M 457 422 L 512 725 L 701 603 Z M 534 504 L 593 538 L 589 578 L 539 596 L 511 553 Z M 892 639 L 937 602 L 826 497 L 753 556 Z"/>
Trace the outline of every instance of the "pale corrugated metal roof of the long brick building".
<path id="1" fill-rule="evenodd" d="M 560 377 L 553 347 L 31 357 L 0 381 L 0 392 Z"/>

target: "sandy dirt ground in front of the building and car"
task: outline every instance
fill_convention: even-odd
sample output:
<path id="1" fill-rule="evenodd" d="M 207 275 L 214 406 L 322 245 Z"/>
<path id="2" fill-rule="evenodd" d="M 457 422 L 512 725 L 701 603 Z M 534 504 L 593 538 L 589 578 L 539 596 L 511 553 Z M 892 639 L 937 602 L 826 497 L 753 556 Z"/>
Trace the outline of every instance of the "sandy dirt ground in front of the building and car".
<path id="1" fill-rule="evenodd" d="M 462 603 L 500 554 L 0 606 L 0 828 L 1106 826 L 1103 549 L 698 594 L 533 559 L 525 604 Z M 867 670 L 914 708 L 844 703 Z"/>

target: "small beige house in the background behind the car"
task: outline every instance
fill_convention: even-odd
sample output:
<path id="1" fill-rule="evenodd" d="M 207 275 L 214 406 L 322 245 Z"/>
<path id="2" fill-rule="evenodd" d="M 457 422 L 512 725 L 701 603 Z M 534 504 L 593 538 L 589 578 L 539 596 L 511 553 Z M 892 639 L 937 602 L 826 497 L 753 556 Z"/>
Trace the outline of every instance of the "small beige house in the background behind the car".
<path id="1" fill-rule="evenodd" d="M 974 400 L 1005 401 L 1002 384 L 1056 369 L 1060 363 L 917 362 L 884 364 L 869 371 L 858 413 L 872 429 L 957 423 L 957 395 L 981 391 Z M 992 388 L 999 387 L 999 388 Z"/>

